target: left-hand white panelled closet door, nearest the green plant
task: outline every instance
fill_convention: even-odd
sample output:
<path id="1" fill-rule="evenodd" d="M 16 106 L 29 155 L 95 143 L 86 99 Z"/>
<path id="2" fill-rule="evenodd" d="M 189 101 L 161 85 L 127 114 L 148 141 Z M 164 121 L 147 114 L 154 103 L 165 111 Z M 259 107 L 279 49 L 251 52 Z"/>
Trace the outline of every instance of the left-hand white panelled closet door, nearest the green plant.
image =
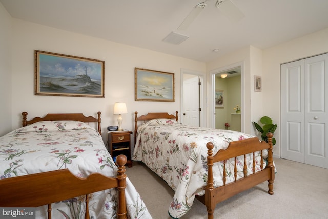
<path id="1" fill-rule="evenodd" d="M 281 65 L 281 157 L 304 163 L 304 61 Z"/>

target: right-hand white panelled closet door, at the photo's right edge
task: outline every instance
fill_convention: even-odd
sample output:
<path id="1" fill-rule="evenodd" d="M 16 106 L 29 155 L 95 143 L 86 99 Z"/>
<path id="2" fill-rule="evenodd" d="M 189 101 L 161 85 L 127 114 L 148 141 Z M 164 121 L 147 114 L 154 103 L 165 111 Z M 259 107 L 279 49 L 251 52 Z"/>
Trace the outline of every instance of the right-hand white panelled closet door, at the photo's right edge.
<path id="1" fill-rule="evenodd" d="M 328 54 L 304 62 L 305 163 L 328 168 Z"/>

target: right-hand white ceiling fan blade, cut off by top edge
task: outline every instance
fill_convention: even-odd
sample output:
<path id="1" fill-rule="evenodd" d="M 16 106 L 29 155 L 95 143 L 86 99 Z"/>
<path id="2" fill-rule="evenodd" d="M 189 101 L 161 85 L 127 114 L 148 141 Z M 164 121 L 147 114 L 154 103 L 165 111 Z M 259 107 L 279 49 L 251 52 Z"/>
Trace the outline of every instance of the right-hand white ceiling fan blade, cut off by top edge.
<path id="1" fill-rule="evenodd" d="M 231 0 L 218 0 L 216 7 L 231 21 L 239 21 L 245 16 Z"/>

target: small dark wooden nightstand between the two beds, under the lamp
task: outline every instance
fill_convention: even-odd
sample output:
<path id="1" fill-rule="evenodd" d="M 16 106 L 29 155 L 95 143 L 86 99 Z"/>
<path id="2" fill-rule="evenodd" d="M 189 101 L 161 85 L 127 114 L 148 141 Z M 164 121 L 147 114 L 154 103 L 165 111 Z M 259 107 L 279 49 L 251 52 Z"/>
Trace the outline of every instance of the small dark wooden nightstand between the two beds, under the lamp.
<path id="1" fill-rule="evenodd" d="M 108 151 L 115 160 L 119 154 L 127 156 L 127 166 L 132 167 L 131 161 L 131 138 L 132 131 L 109 131 Z"/>

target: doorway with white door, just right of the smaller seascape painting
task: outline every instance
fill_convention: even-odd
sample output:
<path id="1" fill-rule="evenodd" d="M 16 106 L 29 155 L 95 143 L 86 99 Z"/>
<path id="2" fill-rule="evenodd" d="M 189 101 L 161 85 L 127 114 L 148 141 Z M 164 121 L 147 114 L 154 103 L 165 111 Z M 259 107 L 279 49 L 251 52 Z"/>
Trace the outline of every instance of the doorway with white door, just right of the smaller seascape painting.
<path id="1" fill-rule="evenodd" d="M 204 127 L 204 74 L 181 69 L 181 123 Z"/>

